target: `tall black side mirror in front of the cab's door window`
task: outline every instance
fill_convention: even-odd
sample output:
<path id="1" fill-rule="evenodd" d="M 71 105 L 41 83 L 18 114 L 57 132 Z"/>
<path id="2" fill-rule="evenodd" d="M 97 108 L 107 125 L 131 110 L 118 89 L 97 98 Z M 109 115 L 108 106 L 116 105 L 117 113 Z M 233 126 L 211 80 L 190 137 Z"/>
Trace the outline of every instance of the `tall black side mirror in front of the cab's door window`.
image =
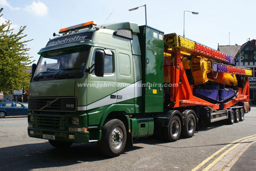
<path id="1" fill-rule="evenodd" d="M 97 77 L 103 77 L 105 70 L 105 52 L 97 50 L 95 52 L 94 73 Z"/>

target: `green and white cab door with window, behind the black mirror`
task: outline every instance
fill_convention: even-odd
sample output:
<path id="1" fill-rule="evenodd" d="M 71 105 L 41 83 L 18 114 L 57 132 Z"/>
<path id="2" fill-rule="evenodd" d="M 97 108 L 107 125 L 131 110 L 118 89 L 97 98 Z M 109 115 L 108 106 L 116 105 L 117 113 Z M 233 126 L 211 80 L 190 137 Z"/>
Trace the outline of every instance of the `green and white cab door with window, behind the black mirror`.
<path id="1" fill-rule="evenodd" d="M 94 47 L 93 56 L 91 59 L 91 65 L 94 64 L 95 51 L 106 51 L 103 48 Z M 110 53 L 110 54 L 109 54 Z M 108 50 L 108 54 L 105 53 L 105 73 L 103 77 L 97 77 L 94 74 L 94 67 L 92 67 L 92 73 L 88 75 L 87 79 L 87 110 L 97 109 L 97 112 L 105 111 L 105 107 L 110 104 L 116 103 L 117 98 L 117 75 L 116 75 L 116 56 L 115 50 Z M 95 113 L 94 113 L 95 114 Z M 89 111 L 90 115 L 90 111 Z M 94 117 L 96 115 L 93 115 Z M 90 116 L 89 116 L 90 119 Z M 97 120 L 97 119 L 95 119 Z M 90 122 L 90 120 L 89 120 Z M 98 120 L 99 122 L 99 120 Z M 98 123 L 90 123 L 98 124 Z"/>

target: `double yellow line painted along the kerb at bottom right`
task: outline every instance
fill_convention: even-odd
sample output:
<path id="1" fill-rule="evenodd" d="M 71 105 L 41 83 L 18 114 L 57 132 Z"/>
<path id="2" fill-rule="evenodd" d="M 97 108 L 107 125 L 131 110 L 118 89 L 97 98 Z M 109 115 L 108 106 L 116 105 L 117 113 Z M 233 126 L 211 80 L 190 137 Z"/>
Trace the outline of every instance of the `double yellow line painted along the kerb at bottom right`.
<path id="1" fill-rule="evenodd" d="M 227 153 L 229 153 L 231 150 L 235 149 L 239 144 L 242 144 L 245 141 L 251 140 L 251 139 L 255 139 L 256 138 L 256 134 L 251 135 L 251 136 L 247 136 L 244 137 L 242 139 L 236 140 L 234 142 L 231 142 L 230 144 L 224 146 L 223 148 L 221 148 L 220 150 L 216 151 L 214 154 L 212 154 L 212 156 L 210 156 L 209 158 L 205 159 L 203 162 L 201 162 L 201 164 L 197 165 L 194 169 L 192 169 L 191 171 L 196 171 L 199 168 L 201 168 L 202 166 L 204 166 L 208 161 L 210 161 L 212 158 L 214 158 L 215 156 L 217 156 L 220 152 L 222 152 L 223 150 L 227 149 L 229 146 L 233 145 L 236 143 L 236 145 L 232 146 L 230 149 L 228 149 L 227 151 L 223 152 L 217 159 L 215 159 L 211 164 L 209 164 L 206 168 L 204 168 L 203 171 L 206 170 L 210 170 L 215 164 L 217 164 L 218 161 L 220 161 Z M 243 140 L 243 141 L 242 141 Z"/>

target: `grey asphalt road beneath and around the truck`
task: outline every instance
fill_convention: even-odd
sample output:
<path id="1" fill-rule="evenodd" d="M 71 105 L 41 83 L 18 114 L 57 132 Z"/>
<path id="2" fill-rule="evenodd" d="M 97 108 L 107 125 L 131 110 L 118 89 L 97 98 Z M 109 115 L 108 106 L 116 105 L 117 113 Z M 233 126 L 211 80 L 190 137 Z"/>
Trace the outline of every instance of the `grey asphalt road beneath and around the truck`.
<path id="1" fill-rule="evenodd" d="M 27 117 L 7 117 L 0 119 L 0 170 L 191 170 L 196 166 L 194 170 L 203 170 L 220 158 L 221 148 L 253 144 L 255 139 L 232 142 L 255 134 L 256 108 L 252 108 L 244 121 L 234 125 L 215 123 L 190 139 L 172 143 L 134 140 L 134 146 L 121 156 L 105 158 L 96 143 L 54 149 L 47 140 L 28 137 Z M 218 150 L 218 155 L 209 158 Z M 209 161 L 202 164 L 205 159 Z"/>

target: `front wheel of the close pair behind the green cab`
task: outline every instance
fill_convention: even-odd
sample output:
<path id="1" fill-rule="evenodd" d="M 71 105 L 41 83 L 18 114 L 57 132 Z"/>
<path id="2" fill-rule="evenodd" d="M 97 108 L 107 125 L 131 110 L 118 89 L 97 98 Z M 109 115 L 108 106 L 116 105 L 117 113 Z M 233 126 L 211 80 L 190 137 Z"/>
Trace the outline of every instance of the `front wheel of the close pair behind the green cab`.
<path id="1" fill-rule="evenodd" d="M 181 133 L 181 122 L 178 116 L 173 116 L 170 121 L 169 125 L 165 130 L 164 136 L 165 140 L 169 142 L 177 141 L 180 137 Z"/>

